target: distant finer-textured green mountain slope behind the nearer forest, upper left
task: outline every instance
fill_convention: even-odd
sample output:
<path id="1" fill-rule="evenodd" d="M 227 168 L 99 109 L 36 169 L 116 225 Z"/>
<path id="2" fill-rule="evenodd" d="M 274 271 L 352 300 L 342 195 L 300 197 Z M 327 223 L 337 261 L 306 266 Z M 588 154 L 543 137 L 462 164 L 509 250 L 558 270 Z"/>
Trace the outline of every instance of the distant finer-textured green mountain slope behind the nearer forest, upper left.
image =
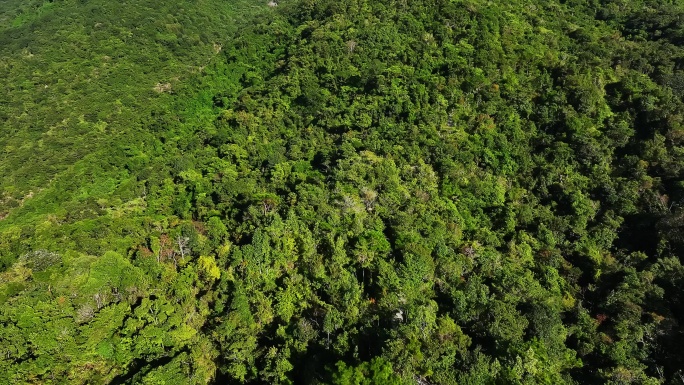
<path id="1" fill-rule="evenodd" d="M 117 157 L 117 143 L 132 145 L 126 135 L 139 135 L 153 106 L 201 72 L 248 4 L 8 2 L 0 27 L 1 215 L 84 156 Z"/>

